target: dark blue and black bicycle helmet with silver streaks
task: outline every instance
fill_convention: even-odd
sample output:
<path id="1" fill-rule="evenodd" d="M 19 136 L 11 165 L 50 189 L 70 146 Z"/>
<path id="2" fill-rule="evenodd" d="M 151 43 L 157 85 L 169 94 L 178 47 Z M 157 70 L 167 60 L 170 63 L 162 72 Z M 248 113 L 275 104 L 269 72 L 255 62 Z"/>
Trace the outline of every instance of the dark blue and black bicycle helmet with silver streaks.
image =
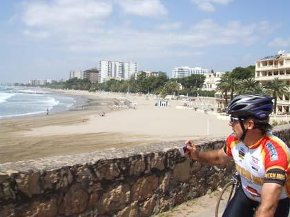
<path id="1" fill-rule="evenodd" d="M 236 116 L 254 116 L 266 120 L 273 111 L 273 97 L 244 94 L 236 96 L 228 105 L 227 113 Z"/>

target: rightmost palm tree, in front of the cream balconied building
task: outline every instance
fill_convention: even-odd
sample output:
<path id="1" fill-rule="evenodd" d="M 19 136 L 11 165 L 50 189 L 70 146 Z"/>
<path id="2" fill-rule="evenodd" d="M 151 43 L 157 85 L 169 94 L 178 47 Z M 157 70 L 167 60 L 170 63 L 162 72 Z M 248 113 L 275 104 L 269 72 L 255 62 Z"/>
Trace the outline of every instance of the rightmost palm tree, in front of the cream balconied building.
<path id="1" fill-rule="evenodd" d="M 289 85 L 282 81 L 279 81 L 278 78 L 275 78 L 273 81 L 266 83 L 265 88 L 271 91 L 272 96 L 274 97 L 274 114 L 277 111 L 277 98 L 282 96 L 282 94 L 289 96 Z"/>

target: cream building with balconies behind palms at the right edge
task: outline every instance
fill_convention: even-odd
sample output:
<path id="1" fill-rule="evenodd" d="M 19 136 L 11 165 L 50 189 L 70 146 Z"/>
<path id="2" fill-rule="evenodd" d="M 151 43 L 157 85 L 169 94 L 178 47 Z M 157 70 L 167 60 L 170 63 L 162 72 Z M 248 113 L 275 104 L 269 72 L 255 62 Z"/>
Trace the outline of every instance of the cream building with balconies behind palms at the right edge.
<path id="1" fill-rule="evenodd" d="M 280 50 L 278 55 L 266 56 L 255 61 L 255 80 L 265 84 L 278 78 L 289 85 L 290 92 L 290 53 Z M 278 96 L 278 114 L 289 114 L 290 99 L 287 95 Z"/>

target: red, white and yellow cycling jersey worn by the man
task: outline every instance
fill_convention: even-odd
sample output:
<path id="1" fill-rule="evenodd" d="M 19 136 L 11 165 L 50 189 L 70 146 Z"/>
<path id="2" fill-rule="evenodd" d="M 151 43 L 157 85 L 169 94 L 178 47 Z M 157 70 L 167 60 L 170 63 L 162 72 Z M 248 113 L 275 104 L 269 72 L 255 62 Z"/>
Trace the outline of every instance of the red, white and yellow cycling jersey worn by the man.
<path id="1" fill-rule="evenodd" d="M 290 152 L 280 138 L 267 132 L 248 147 L 231 134 L 226 138 L 224 152 L 233 157 L 248 198 L 260 202 L 263 183 L 284 185 L 280 199 L 290 197 Z"/>

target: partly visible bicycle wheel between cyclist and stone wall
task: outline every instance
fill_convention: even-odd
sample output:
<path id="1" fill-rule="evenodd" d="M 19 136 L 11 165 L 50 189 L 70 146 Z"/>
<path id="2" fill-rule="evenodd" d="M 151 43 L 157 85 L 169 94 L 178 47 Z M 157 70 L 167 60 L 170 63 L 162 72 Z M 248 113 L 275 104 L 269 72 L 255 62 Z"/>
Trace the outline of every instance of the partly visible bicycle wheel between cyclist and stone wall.
<path id="1" fill-rule="evenodd" d="M 220 171 L 218 167 L 214 167 L 215 170 Z M 236 189 L 240 187 L 240 178 L 238 172 L 234 169 L 233 176 L 229 183 L 226 183 L 222 188 L 222 192 L 218 196 L 217 204 L 215 205 L 215 217 L 220 217 L 224 213 L 226 206 L 229 204 L 229 201 L 235 195 Z"/>

